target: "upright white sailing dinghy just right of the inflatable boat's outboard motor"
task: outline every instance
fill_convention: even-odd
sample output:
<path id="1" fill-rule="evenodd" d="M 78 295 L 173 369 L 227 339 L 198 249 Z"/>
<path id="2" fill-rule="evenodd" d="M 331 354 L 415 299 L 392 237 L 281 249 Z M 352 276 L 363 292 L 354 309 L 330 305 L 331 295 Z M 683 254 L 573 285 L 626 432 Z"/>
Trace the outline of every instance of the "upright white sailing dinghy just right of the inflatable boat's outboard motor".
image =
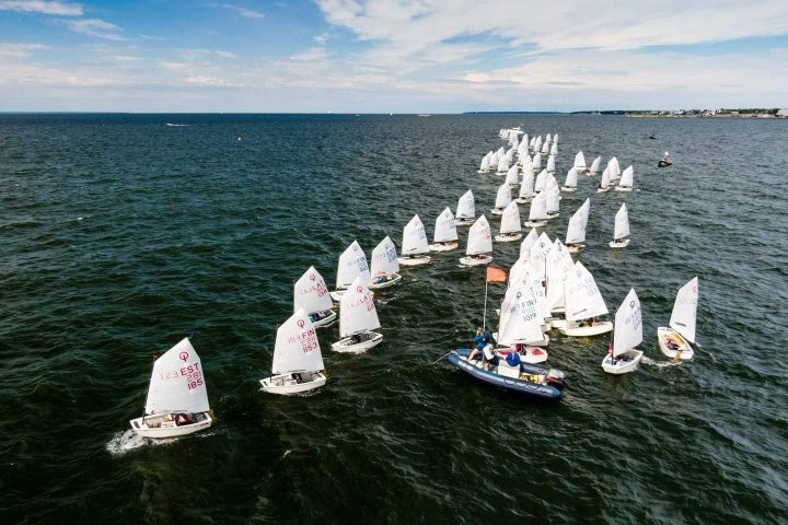
<path id="1" fill-rule="evenodd" d="M 635 372 L 642 359 L 642 351 L 635 350 L 635 347 L 641 342 L 640 300 L 633 288 L 616 311 L 613 346 L 602 360 L 602 370 L 609 374 Z"/>

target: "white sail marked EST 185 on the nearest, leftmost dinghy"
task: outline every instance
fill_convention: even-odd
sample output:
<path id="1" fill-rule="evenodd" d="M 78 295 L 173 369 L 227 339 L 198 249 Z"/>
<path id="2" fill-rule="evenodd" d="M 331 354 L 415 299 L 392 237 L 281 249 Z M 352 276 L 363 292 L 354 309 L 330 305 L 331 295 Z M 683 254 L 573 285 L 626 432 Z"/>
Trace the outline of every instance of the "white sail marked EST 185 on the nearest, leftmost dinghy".
<path id="1" fill-rule="evenodd" d="M 146 413 L 205 412 L 210 410 L 199 355 L 188 338 L 153 363 Z"/>

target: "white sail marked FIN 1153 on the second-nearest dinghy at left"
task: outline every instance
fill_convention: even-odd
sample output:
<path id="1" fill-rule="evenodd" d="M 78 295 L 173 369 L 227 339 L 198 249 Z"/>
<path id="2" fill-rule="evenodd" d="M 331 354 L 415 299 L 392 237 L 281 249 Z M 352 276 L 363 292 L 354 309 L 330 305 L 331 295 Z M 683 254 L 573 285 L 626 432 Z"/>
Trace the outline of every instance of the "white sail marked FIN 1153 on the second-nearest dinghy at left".
<path id="1" fill-rule="evenodd" d="M 357 282 L 360 282 L 356 278 Z M 325 369 L 321 353 L 317 332 L 303 310 L 296 312 L 277 329 L 274 347 L 274 374 L 291 372 L 318 372 Z"/>

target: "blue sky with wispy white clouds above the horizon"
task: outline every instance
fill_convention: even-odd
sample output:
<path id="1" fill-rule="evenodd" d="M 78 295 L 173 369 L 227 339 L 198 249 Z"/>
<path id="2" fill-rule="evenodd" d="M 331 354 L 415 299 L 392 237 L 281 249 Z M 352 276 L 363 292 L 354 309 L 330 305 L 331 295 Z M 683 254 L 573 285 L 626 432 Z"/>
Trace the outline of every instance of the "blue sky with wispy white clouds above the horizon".
<path id="1" fill-rule="evenodd" d="M 0 112 L 788 107 L 788 0 L 0 0 Z"/>

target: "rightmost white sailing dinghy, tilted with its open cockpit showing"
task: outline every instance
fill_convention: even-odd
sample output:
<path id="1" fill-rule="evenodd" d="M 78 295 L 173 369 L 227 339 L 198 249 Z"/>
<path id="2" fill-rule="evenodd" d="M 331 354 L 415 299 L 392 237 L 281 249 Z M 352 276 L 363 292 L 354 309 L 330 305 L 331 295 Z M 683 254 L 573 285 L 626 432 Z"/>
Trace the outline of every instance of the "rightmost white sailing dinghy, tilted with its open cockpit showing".
<path id="1" fill-rule="evenodd" d="M 670 326 L 657 328 L 660 350 L 674 360 L 688 360 L 695 355 L 695 322 L 697 320 L 698 279 L 684 284 L 673 303 Z"/>

